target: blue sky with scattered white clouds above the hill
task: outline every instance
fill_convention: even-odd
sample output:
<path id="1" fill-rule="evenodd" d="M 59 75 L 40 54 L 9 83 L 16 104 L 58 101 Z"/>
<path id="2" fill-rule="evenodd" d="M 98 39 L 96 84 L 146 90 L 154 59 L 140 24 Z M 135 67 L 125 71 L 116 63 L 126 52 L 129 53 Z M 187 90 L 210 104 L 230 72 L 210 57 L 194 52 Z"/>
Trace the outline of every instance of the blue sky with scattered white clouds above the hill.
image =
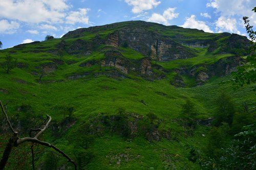
<path id="1" fill-rule="evenodd" d="M 254 7 L 256 0 L 0 0 L 0 41 L 9 48 L 129 20 L 246 36 L 242 17 L 256 27 Z"/>

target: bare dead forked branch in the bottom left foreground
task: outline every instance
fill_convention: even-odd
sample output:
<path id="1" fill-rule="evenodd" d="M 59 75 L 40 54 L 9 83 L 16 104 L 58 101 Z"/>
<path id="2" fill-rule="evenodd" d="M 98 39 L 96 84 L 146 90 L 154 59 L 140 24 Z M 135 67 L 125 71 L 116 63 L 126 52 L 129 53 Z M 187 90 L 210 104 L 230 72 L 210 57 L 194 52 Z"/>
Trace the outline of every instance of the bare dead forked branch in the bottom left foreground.
<path id="1" fill-rule="evenodd" d="M 75 170 L 77 169 L 76 163 L 67 154 L 65 154 L 63 151 L 61 151 L 57 147 L 55 147 L 55 145 L 53 145 L 51 143 L 48 143 L 48 142 L 45 142 L 45 141 L 41 141 L 41 140 L 38 139 L 38 137 L 48 128 L 48 126 L 49 126 L 49 124 L 50 124 L 50 122 L 52 120 L 51 116 L 49 116 L 48 114 L 46 115 L 47 116 L 46 120 L 48 119 L 48 122 L 46 123 L 44 128 L 42 128 L 42 129 L 40 129 L 40 128 L 38 128 L 38 129 L 30 129 L 30 132 L 29 132 L 29 136 L 30 137 L 19 138 L 18 137 L 18 132 L 14 131 L 14 129 L 11 126 L 10 120 L 8 118 L 8 115 L 7 115 L 7 113 L 6 113 L 5 109 L 4 109 L 4 106 L 3 106 L 1 101 L 0 101 L 0 105 L 1 105 L 1 108 L 2 108 L 2 112 L 4 113 L 4 115 L 5 115 L 6 119 L 7 119 L 8 125 L 9 125 L 9 127 L 11 128 L 11 130 L 13 132 L 13 136 L 10 138 L 9 143 L 7 144 L 7 146 L 5 148 L 5 152 L 3 154 L 3 157 L 2 157 L 2 159 L 0 161 L 0 170 L 4 169 L 4 167 L 5 167 L 5 165 L 6 165 L 7 161 L 8 161 L 8 158 L 9 158 L 9 155 L 11 153 L 12 148 L 13 147 L 18 147 L 19 144 L 22 144 L 24 142 L 32 142 L 31 152 L 32 152 L 33 169 L 34 169 L 34 150 L 33 150 L 34 143 L 38 143 L 38 144 L 41 144 L 41 145 L 44 145 L 46 147 L 54 149 L 59 154 L 61 154 L 63 157 L 67 158 L 68 162 L 73 163 L 73 165 L 75 167 Z M 46 122 L 46 120 L 45 120 L 45 122 Z M 39 131 L 39 132 L 34 137 L 32 137 L 32 132 L 33 131 Z"/>

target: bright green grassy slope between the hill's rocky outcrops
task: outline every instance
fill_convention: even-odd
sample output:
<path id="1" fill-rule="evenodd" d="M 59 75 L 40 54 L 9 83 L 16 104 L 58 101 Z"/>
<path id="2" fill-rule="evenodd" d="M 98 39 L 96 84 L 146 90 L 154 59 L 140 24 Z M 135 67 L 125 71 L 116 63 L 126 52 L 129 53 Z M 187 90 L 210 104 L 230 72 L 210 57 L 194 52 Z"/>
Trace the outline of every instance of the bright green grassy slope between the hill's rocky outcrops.
<path id="1" fill-rule="evenodd" d="M 125 108 L 126 112 L 144 116 L 149 112 L 154 112 L 162 121 L 159 128 L 162 130 L 172 129 L 174 131 L 173 138 L 176 138 L 176 140 L 162 139 L 159 142 L 148 142 L 142 136 L 127 140 L 115 133 L 103 132 L 103 135 L 95 137 L 94 142 L 89 147 L 94 157 L 86 165 L 88 169 L 102 169 L 102 167 L 104 169 L 172 169 L 175 167 L 177 169 L 199 169 L 198 164 L 188 161 L 188 152 L 191 148 L 200 148 L 205 144 L 202 134 L 207 133 L 208 129 L 198 126 L 193 135 L 189 136 L 186 129 L 178 123 L 178 120 L 185 116 L 181 114 L 181 105 L 185 103 L 185 99 L 189 98 L 194 102 L 198 110 L 197 118 L 207 118 L 212 116 L 214 111 L 212 101 L 218 91 L 222 89 L 230 93 L 238 105 L 241 105 L 242 101 L 253 101 L 255 98 L 254 94 L 250 92 L 250 88 L 232 91 L 229 88 L 230 84 L 219 84 L 220 81 L 228 78 L 211 78 L 204 86 L 190 88 L 173 87 L 169 83 L 172 76 L 153 82 L 133 75 L 131 75 L 133 79 L 117 80 L 92 75 L 77 80 L 67 79 L 72 74 L 88 71 L 100 72 L 98 66 L 79 67 L 79 64 L 86 60 L 103 58 L 103 54 L 98 52 L 93 52 L 87 57 L 74 57 L 65 54 L 64 61 L 76 63 L 58 65 L 58 69 L 44 76 L 42 78 L 43 83 L 39 84 L 36 81 L 39 75 L 32 75 L 31 73 L 38 71 L 38 67 L 42 63 L 49 63 L 53 59 L 57 59 L 57 56 L 45 52 L 31 53 L 26 51 L 40 46 L 46 47 L 44 49 L 47 52 L 58 42 L 60 39 L 25 45 L 12 56 L 17 57 L 18 62 L 28 64 L 28 68 L 15 68 L 8 75 L 1 70 L 0 88 L 9 93 L 0 92 L 0 99 L 4 103 L 9 101 L 8 113 L 10 116 L 21 114 L 17 111 L 19 106 L 30 105 L 33 110 L 32 117 L 49 114 L 56 122 L 61 122 L 63 113 L 58 108 L 74 107 L 74 116 L 77 118 L 76 124 L 66 131 L 60 139 L 53 137 L 49 131 L 44 137 L 47 141 L 55 143 L 57 147 L 71 154 L 72 157 L 74 157 L 73 150 L 76 144 L 81 140 L 86 140 L 81 139 L 81 137 L 86 138 L 86 136 L 78 133 L 84 122 L 88 122 L 99 113 L 115 115 L 118 108 Z M 3 59 L 4 54 L 12 50 L 15 49 L 2 51 L 0 59 Z M 122 50 L 124 50 L 123 56 L 126 58 L 140 59 L 143 57 L 130 49 L 123 48 Z M 166 69 L 173 69 L 200 63 L 213 63 L 220 58 L 229 56 L 231 55 L 207 55 L 205 51 L 201 50 L 201 55 L 196 58 L 159 62 L 158 64 Z M 20 83 L 18 80 L 23 80 L 26 83 Z M 58 81 L 49 83 L 52 80 Z M 141 100 L 147 106 L 143 105 Z M 26 116 L 30 117 L 31 115 Z M 3 152 L 2 148 L 0 148 L 0 152 Z M 117 156 L 120 157 L 120 154 L 126 155 L 128 159 L 121 156 L 121 163 L 117 164 L 119 161 Z M 65 162 L 63 159 L 61 161 Z"/>

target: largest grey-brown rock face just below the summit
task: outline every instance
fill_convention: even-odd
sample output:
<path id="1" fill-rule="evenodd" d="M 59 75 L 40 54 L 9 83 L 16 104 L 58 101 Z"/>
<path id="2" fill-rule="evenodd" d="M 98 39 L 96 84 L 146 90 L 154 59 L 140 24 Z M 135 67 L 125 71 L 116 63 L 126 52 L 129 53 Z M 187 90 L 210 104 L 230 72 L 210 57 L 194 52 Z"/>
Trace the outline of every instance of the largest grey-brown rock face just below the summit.
<path id="1" fill-rule="evenodd" d="M 125 28 L 110 34 L 105 42 L 116 47 L 124 43 L 133 50 L 159 61 L 195 57 L 190 48 L 145 28 Z"/>

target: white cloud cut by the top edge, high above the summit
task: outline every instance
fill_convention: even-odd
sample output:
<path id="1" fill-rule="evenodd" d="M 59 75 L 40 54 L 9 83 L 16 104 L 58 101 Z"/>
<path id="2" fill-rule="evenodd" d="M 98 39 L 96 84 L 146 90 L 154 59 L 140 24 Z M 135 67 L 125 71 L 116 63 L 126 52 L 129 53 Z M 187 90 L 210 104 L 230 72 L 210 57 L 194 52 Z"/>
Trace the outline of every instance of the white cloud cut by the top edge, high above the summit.
<path id="1" fill-rule="evenodd" d="M 146 10 L 150 10 L 157 7 L 161 2 L 156 0 L 125 0 L 125 2 L 133 6 L 133 13 L 141 13 Z"/>

